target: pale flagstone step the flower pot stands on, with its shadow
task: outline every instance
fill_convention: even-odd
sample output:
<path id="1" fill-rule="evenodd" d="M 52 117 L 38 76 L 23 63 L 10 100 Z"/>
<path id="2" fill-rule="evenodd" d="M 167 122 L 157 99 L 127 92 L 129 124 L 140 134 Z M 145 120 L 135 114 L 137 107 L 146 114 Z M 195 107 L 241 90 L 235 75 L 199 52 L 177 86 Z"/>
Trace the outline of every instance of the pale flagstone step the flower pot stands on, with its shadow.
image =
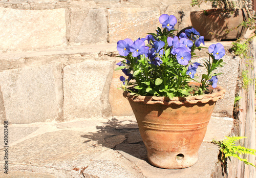
<path id="1" fill-rule="evenodd" d="M 218 172 L 219 147 L 212 139 L 231 134 L 233 119 L 212 117 L 199 161 L 185 169 L 150 165 L 134 117 L 8 125 L 5 177 L 211 177 Z M 4 125 L 1 125 L 3 133 Z M 4 140 L 3 134 L 0 140 Z M 3 142 L 0 169 L 4 168 Z M 3 171 L 1 176 L 6 174 Z"/>

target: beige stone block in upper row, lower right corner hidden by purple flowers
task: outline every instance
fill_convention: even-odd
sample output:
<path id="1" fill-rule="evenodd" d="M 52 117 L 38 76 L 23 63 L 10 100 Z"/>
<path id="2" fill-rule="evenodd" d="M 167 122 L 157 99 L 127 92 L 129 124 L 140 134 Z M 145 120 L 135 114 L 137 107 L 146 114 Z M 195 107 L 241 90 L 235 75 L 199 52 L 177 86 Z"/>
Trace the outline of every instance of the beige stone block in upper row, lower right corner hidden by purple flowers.
<path id="1" fill-rule="evenodd" d="M 109 9 L 110 42 L 125 38 L 144 38 L 146 33 L 155 33 L 161 24 L 158 8 L 111 8 Z"/>

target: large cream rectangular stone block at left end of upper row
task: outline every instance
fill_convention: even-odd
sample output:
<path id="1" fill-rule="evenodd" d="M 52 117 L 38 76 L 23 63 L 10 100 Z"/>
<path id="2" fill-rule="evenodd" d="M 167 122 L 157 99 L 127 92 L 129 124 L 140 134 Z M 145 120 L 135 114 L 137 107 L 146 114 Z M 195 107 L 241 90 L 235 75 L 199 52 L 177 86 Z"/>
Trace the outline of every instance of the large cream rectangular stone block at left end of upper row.
<path id="1" fill-rule="evenodd" d="M 29 51 L 65 46 L 65 9 L 0 8 L 0 50 Z"/>

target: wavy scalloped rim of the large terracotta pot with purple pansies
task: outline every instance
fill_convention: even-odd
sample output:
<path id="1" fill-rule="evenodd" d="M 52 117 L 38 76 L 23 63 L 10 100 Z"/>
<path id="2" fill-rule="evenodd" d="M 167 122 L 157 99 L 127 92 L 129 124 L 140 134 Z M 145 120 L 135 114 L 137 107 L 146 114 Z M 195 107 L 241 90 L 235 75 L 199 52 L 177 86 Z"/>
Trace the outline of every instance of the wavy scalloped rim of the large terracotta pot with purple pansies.
<path id="1" fill-rule="evenodd" d="M 128 99 L 132 100 L 133 102 L 139 102 L 139 103 L 146 103 L 146 104 L 196 104 L 196 103 L 208 103 L 209 101 L 216 102 L 219 99 L 222 99 L 224 97 L 224 94 L 226 93 L 226 90 L 222 88 L 221 86 L 217 86 L 214 88 L 214 93 L 211 94 L 204 94 L 199 96 L 188 96 L 188 97 L 174 97 L 172 100 L 169 99 L 169 97 L 157 97 L 157 96 L 136 96 L 131 95 L 131 93 L 125 91 L 123 92 L 123 96 Z"/>

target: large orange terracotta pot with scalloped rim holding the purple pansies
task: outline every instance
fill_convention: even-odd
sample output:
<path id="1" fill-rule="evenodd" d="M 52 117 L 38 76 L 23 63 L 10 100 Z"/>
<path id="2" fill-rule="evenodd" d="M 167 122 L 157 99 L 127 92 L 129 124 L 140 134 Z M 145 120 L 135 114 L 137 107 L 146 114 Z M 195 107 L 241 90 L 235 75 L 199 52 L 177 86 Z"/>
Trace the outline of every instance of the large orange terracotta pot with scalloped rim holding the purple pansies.
<path id="1" fill-rule="evenodd" d="M 147 149 L 148 161 L 160 168 L 179 169 L 198 161 L 207 125 L 217 100 L 225 90 L 201 96 L 168 97 L 131 96 L 132 106 Z"/>

